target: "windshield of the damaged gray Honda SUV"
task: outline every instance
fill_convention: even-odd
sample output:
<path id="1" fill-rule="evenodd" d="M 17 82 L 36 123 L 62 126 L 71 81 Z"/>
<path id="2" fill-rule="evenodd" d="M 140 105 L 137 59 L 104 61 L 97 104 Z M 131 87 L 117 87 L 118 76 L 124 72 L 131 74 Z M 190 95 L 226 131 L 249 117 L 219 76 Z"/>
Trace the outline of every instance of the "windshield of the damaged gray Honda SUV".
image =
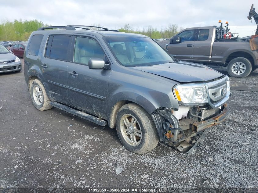
<path id="1" fill-rule="evenodd" d="M 174 61 L 151 38 L 105 37 L 104 40 L 123 66 L 152 66 Z"/>

